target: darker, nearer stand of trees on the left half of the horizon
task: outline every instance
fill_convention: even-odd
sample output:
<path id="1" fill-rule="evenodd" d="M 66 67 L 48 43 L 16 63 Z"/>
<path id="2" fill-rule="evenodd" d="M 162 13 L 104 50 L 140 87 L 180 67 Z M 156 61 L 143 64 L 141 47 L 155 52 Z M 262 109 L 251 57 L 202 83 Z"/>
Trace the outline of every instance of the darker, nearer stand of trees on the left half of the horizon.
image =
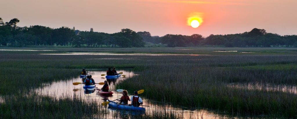
<path id="1" fill-rule="evenodd" d="M 4 23 L 0 18 L 1 46 L 144 47 L 143 38 L 131 29 L 113 34 L 92 31 L 75 34 L 74 29 L 64 26 L 57 29 L 39 25 L 18 27 L 19 22 L 14 18 Z"/>

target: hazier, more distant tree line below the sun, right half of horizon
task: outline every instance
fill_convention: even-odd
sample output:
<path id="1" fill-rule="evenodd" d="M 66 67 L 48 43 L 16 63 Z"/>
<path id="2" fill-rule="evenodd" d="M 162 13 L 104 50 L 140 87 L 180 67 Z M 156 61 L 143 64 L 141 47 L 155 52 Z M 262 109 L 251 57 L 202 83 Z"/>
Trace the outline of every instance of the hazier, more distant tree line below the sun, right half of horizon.
<path id="1" fill-rule="evenodd" d="M 167 34 L 162 37 L 150 37 L 145 34 L 143 39 L 152 43 L 163 43 L 168 47 L 185 46 L 225 46 L 225 47 L 297 47 L 297 35 L 280 36 L 278 34 L 267 33 L 265 29 L 254 28 L 250 32 L 228 35 L 209 35 L 203 37 L 199 34 L 172 35 Z"/>

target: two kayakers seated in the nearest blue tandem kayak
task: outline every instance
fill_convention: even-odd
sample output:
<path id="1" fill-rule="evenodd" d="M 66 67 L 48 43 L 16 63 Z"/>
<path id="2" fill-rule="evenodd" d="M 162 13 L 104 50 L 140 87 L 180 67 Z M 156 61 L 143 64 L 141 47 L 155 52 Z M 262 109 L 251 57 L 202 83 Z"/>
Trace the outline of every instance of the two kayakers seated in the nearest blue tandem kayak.
<path id="1" fill-rule="evenodd" d="M 123 96 L 117 100 L 120 102 L 121 105 L 125 105 L 125 106 L 133 105 L 133 107 L 139 107 L 139 105 L 143 104 L 142 99 L 138 96 L 137 91 L 134 91 L 134 96 L 131 97 L 131 100 L 128 96 L 127 90 L 123 90 L 122 94 Z M 128 101 L 131 101 L 131 104 L 128 104 Z"/>

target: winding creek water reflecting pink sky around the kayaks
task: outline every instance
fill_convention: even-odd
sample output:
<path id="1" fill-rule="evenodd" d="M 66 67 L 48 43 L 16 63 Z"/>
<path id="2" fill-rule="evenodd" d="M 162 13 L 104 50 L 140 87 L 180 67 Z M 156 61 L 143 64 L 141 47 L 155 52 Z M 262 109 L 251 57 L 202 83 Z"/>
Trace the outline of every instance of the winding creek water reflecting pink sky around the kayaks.
<path id="1" fill-rule="evenodd" d="M 128 79 L 131 76 L 135 76 L 138 74 L 133 73 L 132 71 L 129 70 L 118 70 L 118 72 L 123 72 L 124 75 L 126 75 L 126 78 L 124 77 L 119 77 L 117 79 L 106 79 L 105 76 L 101 76 L 101 74 L 106 74 L 106 71 L 98 71 L 98 70 L 93 70 L 93 71 L 88 71 L 90 75 L 92 75 L 92 78 L 95 80 L 96 83 L 99 82 L 104 82 L 105 80 L 108 81 L 108 84 L 110 86 L 110 90 L 114 89 L 114 85 L 116 83 L 119 83 L 123 80 Z M 82 82 L 82 79 L 77 76 L 77 78 L 72 79 L 72 80 L 66 80 L 66 81 L 58 81 L 58 82 L 52 82 L 50 84 L 43 84 L 44 87 L 36 89 L 35 91 L 39 93 L 40 95 L 50 95 L 56 98 L 62 98 L 65 96 L 80 96 L 84 100 L 94 100 L 97 101 L 99 104 L 102 102 L 108 100 L 116 100 L 118 98 L 121 98 L 122 94 L 118 93 L 116 91 L 113 91 L 113 96 L 110 97 L 105 97 L 97 94 L 97 90 L 94 92 L 85 92 L 83 90 L 83 84 L 79 85 L 73 85 L 73 82 Z M 103 85 L 96 84 L 97 88 L 103 87 Z M 141 90 L 141 89 L 139 89 Z M 129 92 L 131 94 L 132 92 Z M 168 104 L 162 103 L 162 102 L 156 102 L 152 101 L 149 99 L 146 99 L 144 95 L 139 94 L 139 96 L 143 99 L 143 105 L 148 105 L 150 107 L 144 107 L 146 108 L 147 114 L 151 114 L 154 111 L 166 111 L 166 112 L 172 112 L 177 116 L 183 117 L 183 118 L 229 118 L 229 116 L 224 116 L 224 113 L 221 112 L 212 112 L 208 110 L 187 110 L 185 108 L 176 108 L 176 107 L 171 107 Z M 130 96 L 131 97 L 131 96 Z M 129 104 L 131 103 L 130 101 L 128 102 Z M 127 118 L 127 112 L 126 111 L 119 111 L 115 110 L 112 108 L 108 108 L 108 106 L 104 106 L 106 108 L 106 115 L 104 115 L 104 118 L 114 118 L 115 116 L 117 118 Z M 115 115 L 116 114 L 116 115 Z"/>

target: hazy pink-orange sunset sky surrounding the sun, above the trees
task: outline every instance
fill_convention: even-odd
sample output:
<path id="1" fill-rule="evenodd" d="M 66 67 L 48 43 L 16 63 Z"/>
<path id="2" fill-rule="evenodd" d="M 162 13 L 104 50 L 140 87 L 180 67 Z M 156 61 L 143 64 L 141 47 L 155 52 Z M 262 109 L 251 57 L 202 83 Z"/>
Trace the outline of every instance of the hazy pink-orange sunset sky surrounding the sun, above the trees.
<path id="1" fill-rule="evenodd" d="M 297 35 L 297 0 L 1 0 L 0 18 L 18 18 L 17 26 L 67 26 L 116 33 L 121 29 L 203 36 L 265 29 Z M 198 28 L 188 18 L 199 17 Z"/>

